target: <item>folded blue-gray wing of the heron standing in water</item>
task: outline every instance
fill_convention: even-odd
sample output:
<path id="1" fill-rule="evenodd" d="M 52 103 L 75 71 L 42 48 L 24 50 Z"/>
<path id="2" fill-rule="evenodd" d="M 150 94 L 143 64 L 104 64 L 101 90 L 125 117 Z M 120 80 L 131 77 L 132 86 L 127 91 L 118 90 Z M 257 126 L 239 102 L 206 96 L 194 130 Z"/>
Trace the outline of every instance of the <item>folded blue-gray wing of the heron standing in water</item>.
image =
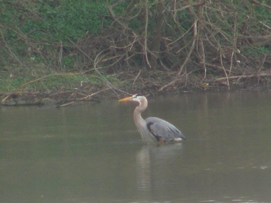
<path id="1" fill-rule="evenodd" d="M 165 120 L 150 117 L 146 119 L 147 128 L 150 133 L 157 139 L 165 142 L 172 140 L 185 140 L 185 136 L 175 126 Z"/>

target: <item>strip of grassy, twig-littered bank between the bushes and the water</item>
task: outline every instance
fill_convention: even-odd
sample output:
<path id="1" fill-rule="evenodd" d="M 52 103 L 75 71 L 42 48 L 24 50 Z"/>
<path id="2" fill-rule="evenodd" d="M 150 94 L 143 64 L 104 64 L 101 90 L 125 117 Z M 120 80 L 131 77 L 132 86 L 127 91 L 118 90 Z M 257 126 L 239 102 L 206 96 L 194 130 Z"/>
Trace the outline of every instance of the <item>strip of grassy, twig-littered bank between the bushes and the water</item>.
<path id="1" fill-rule="evenodd" d="M 11 83 L 23 81 L 22 77 L 11 76 L 11 73 L 4 75 L 8 78 L 2 80 Z M 269 72 L 228 77 L 208 75 L 205 78 L 202 74 L 179 76 L 173 72 L 157 71 L 151 74 L 147 71 L 120 72 L 108 76 L 88 72 L 57 73 L 28 78 L 17 87 L 10 86 L 9 91 L 0 94 L 0 99 L 2 106 L 64 107 L 118 99 L 135 93 L 157 96 L 190 92 L 271 90 L 270 78 Z"/>

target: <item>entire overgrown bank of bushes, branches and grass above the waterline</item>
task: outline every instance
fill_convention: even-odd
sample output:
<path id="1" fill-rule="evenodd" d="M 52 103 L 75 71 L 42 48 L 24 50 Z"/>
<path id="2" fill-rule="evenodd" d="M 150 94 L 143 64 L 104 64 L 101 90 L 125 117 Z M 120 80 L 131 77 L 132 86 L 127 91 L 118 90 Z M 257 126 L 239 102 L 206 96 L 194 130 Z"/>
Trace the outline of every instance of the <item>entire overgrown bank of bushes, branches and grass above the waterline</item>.
<path id="1" fill-rule="evenodd" d="M 271 7 L 265 1 L 0 5 L 3 103 L 8 95 L 31 92 L 80 92 L 85 98 L 139 89 L 230 90 L 254 76 L 256 83 L 269 84 Z"/>

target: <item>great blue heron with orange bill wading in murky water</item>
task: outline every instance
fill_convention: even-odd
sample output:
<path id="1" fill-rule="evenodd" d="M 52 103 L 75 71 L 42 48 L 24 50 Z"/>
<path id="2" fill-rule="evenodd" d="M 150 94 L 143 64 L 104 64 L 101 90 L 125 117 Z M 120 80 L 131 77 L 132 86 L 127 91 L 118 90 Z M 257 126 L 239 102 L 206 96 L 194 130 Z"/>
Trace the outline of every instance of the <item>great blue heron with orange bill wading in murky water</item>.
<path id="1" fill-rule="evenodd" d="M 126 97 L 119 102 L 135 101 L 139 105 L 134 110 L 134 122 L 144 142 L 151 143 L 154 139 L 163 142 L 181 142 L 185 140 L 185 136 L 175 126 L 156 117 L 149 117 L 144 120 L 141 113 L 147 109 L 148 101 L 144 96 L 135 94 L 131 97 Z"/>

